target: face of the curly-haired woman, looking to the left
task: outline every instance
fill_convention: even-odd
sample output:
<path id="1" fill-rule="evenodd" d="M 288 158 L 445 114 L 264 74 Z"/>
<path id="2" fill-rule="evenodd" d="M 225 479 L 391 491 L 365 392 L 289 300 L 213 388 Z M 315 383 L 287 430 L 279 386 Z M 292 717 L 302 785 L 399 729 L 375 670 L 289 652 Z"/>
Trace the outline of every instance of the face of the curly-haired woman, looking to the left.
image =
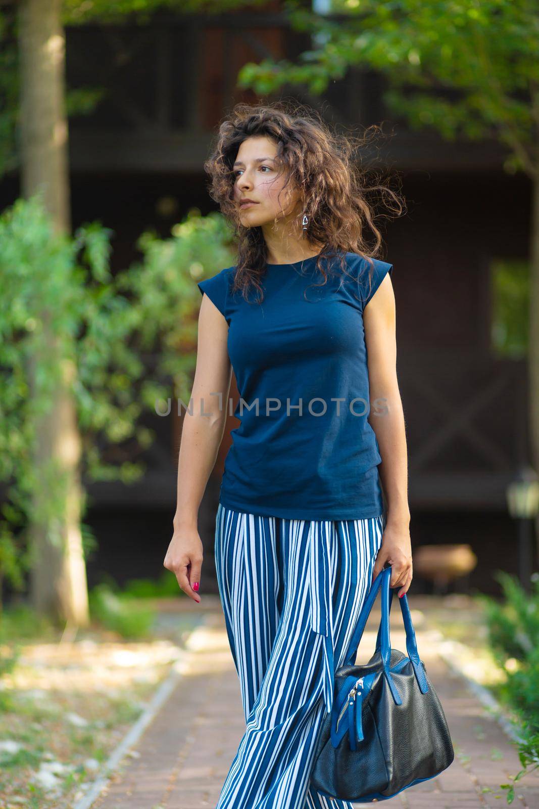
<path id="1" fill-rule="evenodd" d="M 234 201 L 245 227 L 296 215 L 299 194 L 292 184 L 282 190 L 287 175 L 280 168 L 277 144 L 271 138 L 253 135 L 240 144 L 234 163 Z M 243 199 L 254 200 L 255 205 L 241 205 Z"/>

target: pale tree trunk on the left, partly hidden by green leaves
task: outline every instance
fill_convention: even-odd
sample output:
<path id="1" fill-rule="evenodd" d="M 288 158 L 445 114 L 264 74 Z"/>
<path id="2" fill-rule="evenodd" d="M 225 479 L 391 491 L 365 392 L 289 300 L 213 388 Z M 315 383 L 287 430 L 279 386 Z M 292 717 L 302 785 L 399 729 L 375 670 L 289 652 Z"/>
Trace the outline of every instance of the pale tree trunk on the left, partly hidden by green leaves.
<path id="1" fill-rule="evenodd" d="M 24 197 L 42 195 L 57 232 L 69 232 L 68 126 L 65 116 L 65 35 L 61 0 L 21 0 L 19 6 L 21 66 L 20 129 Z M 71 394 L 76 368 L 62 358 L 43 313 L 43 350 L 57 355 L 63 383 L 50 412 L 36 425 L 39 437 L 34 463 L 43 481 L 35 493 L 36 514 L 48 496 L 45 468 L 52 460 L 67 476 L 65 507 L 54 525 L 33 519 L 28 529 L 32 549 L 32 604 L 71 625 L 87 625 L 88 594 L 82 553 L 80 480 L 81 439 Z M 31 388 L 36 388 L 39 358 L 32 362 Z M 41 474 L 40 474 L 41 470 Z M 53 535 L 60 541 L 53 541 Z"/>

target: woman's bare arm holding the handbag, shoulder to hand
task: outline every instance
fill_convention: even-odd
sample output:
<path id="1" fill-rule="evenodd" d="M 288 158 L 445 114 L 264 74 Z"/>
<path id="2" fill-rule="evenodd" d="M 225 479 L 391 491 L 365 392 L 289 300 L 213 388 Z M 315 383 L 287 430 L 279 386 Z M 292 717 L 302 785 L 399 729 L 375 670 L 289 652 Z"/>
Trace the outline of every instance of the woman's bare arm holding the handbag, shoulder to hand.
<path id="1" fill-rule="evenodd" d="M 395 296 L 389 274 L 364 307 L 371 412 L 369 424 L 380 447 L 381 484 L 387 500 L 387 524 L 373 579 L 387 561 L 393 568 L 390 587 L 406 593 L 412 580 L 406 430 L 397 381 Z"/>

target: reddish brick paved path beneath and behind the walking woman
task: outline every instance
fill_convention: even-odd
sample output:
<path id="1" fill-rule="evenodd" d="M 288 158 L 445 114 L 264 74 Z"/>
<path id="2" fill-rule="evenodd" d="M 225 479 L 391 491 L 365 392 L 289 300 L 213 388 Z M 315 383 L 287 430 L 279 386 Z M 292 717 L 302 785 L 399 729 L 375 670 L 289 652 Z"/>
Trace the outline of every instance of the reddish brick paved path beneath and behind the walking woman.
<path id="1" fill-rule="evenodd" d="M 205 598 L 212 610 L 192 637 L 187 673 L 139 739 L 134 748 L 139 755 L 124 758 L 92 809 L 215 809 L 245 722 L 218 598 Z M 391 645 L 406 650 L 400 612 L 399 620 L 394 625 L 392 612 Z M 358 660 L 373 653 L 379 621 L 373 609 L 368 628 L 374 631 L 364 632 Z M 506 790 L 499 784 L 520 770 L 516 747 L 461 678 L 449 671 L 432 638 L 417 628 L 415 632 L 419 655 L 444 707 L 455 760 L 439 777 L 380 803 L 400 809 L 507 806 Z M 539 809 L 539 776 L 527 775 L 517 786 L 512 807 Z"/>

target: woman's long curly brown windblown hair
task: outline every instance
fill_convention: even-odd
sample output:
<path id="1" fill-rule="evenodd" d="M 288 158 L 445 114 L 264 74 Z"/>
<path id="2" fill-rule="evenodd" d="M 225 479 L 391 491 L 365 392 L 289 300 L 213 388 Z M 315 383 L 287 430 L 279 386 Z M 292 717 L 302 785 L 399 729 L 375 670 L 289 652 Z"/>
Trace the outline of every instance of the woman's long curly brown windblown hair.
<path id="1" fill-rule="evenodd" d="M 240 144 L 251 136 L 267 136 L 276 142 L 282 170 L 288 172 L 286 185 L 295 184 L 309 217 L 305 238 L 309 244 L 325 245 L 316 263 L 323 277 L 318 286 L 322 286 L 327 280 L 324 264 L 329 266 L 335 258 L 347 275 L 347 252 L 363 256 L 372 265 L 370 259 L 381 253 L 382 245 L 375 219 L 400 216 L 405 210 L 400 193 L 381 184 L 381 172 L 372 171 L 373 182 L 368 184 L 368 174 L 360 166 L 361 150 L 377 133 L 381 133 L 380 127 L 372 125 L 362 137 L 339 135 L 305 104 L 276 101 L 234 106 L 221 122 L 213 154 L 204 163 L 210 176 L 209 195 L 232 225 L 238 243 L 234 290 L 242 290 L 245 299 L 251 285 L 262 293 L 260 280 L 267 261 L 262 228 L 242 225 L 234 203 L 233 167 Z M 358 155 L 353 155 L 355 147 Z M 367 199 L 373 193 L 378 195 L 374 204 Z M 372 277 L 371 272 L 369 288 Z"/>

